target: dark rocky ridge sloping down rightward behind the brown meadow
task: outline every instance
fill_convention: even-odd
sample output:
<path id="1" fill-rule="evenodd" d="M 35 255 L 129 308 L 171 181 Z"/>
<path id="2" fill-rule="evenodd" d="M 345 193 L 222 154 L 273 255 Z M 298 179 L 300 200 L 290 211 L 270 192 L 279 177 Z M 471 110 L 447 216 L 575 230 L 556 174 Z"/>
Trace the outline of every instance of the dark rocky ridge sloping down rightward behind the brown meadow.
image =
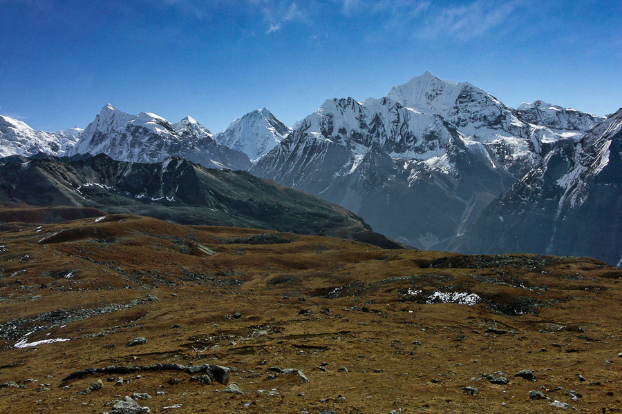
<path id="1" fill-rule="evenodd" d="M 7 157 L 0 203 L 99 208 L 178 224 L 267 228 L 400 246 L 341 206 L 244 171 L 174 158 L 140 164 L 107 155 L 86 159 Z"/>

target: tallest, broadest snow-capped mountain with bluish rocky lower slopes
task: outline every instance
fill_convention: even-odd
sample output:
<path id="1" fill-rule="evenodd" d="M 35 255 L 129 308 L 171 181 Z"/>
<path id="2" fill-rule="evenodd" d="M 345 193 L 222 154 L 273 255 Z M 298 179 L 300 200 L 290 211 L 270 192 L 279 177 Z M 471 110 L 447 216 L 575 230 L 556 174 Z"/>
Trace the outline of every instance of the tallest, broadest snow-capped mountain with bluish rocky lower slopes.
<path id="1" fill-rule="evenodd" d="M 249 171 L 345 206 L 402 242 L 446 248 L 547 152 L 581 135 L 426 72 L 382 99 L 326 101 Z"/>

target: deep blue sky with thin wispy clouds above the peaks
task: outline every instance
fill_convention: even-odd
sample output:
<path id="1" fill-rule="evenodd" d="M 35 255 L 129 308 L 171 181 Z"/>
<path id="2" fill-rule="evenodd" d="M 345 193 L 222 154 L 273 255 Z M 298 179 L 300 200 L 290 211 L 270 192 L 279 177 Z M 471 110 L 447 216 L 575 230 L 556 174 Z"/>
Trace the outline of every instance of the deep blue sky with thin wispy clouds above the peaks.
<path id="1" fill-rule="evenodd" d="M 212 132 L 285 124 L 426 70 L 508 106 L 622 106 L 622 1 L 0 0 L 0 115 L 86 127 L 106 103 Z"/>

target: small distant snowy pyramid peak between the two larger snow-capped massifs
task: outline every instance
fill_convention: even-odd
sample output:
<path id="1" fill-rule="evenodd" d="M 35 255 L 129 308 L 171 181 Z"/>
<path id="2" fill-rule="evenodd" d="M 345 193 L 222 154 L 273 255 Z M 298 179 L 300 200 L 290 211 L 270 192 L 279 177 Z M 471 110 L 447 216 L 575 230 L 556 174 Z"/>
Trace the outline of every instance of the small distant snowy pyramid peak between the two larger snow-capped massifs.
<path id="1" fill-rule="evenodd" d="M 235 119 L 225 130 L 214 135 L 218 144 L 242 151 L 251 161 L 270 152 L 292 132 L 266 108 L 254 110 Z"/>

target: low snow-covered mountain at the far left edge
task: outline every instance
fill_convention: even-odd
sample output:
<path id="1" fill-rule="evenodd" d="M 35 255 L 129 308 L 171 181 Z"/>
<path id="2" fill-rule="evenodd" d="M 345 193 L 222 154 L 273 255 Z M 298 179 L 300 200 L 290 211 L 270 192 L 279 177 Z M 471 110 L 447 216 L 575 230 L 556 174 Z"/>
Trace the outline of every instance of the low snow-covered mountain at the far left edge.
<path id="1" fill-rule="evenodd" d="M 0 158 L 10 155 L 28 157 L 38 152 L 62 156 L 75 145 L 79 137 L 70 132 L 33 130 L 25 122 L 0 116 Z"/>

